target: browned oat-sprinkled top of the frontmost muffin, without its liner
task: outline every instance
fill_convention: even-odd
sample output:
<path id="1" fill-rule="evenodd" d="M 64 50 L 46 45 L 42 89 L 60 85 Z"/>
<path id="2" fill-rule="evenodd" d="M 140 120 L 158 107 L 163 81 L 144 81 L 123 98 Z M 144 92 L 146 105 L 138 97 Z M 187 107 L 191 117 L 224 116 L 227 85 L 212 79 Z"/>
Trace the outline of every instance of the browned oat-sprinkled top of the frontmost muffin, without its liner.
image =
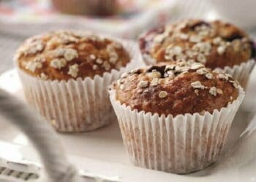
<path id="1" fill-rule="evenodd" d="M 123 74 L 113 83 L 116 100 L 138 111 L 204 114 L 220 110 L 238 98 L 238 82 L 201 63 L 173 62 Z"/>

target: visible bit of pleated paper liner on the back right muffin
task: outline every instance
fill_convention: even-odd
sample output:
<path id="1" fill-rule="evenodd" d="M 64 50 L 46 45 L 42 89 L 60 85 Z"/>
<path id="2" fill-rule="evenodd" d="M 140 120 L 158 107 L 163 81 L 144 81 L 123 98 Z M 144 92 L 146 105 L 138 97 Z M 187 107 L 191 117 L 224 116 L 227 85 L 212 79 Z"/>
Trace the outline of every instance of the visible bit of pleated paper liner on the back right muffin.
<path id="1" fill-rule="evenodd" d="M 255 66 L 255 60 L 251 59 L 245 63 L 241 63 L 240 65 L 236 65 L 233 67 L 225 66 L 222 70 L 225 74 L 230 74 L 233 76 L 233 79 L 236 79 L 241 86 L 246 89 L 247 83 L 249 81 L 249 76 L 252 72 L 252 69 Z M 221 70 L 221 69 L 218 69 Z"/>

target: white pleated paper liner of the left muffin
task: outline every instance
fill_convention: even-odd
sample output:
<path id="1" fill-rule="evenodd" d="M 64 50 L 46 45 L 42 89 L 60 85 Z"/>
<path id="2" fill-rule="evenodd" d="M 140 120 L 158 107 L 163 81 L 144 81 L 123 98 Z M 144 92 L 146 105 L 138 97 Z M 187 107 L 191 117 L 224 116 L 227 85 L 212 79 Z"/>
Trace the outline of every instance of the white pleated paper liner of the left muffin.
<path id="1" fill-rule="evenodd" d="M 112 70 L 103 76 L 94 76 L 94 79 L 44 81 L 16 66 L 26 100 L 60 132 L 91 131 L 116 119 L 109 100 L 108 85 L 122 73 L 143 64 L 138 47 L 133 42 L 118 41 L 129 52 L 130 63 L 120 71 Z"/>

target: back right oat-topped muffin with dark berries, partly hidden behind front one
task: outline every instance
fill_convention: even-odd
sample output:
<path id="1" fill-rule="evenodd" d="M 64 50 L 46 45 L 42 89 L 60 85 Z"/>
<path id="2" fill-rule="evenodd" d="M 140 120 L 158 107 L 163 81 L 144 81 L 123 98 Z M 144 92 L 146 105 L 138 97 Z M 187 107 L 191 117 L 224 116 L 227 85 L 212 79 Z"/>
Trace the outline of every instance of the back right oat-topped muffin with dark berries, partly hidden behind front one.
<path id="1" fill-rule="evenodd" d="M 219 20 L 183 20 L 143 33 L 139 41 L 148 64 L 196 61 L 207 68 L 221 68 L 243 87 L 255 65 L 255 47 L 249 36 Z"/>

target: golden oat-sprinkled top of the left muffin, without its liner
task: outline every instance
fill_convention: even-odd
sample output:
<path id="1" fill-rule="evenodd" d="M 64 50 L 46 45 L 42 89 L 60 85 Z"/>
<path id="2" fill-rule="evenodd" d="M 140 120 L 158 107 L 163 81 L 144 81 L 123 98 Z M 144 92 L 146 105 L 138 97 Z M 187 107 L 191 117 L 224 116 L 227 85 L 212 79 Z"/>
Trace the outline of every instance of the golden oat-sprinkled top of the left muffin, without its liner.
<path id="1" fill-rule="evenodd" d="M 53 31 L 27 39 L 15 60 L 31 76 L 68 80 L 119 70 L 130 58 L 118 41 L 87 31 Z"/>

